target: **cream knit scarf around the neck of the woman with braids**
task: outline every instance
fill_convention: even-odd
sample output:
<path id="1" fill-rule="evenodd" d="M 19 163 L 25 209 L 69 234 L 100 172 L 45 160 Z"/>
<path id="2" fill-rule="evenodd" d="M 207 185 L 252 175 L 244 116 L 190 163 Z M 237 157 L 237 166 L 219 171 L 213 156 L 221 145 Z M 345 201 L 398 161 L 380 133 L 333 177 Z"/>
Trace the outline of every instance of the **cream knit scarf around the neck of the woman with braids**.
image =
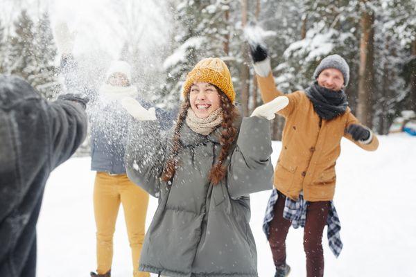
<path id="1" fill-rule="evenodd" d="M 207 118 L 198 118 L 191 108 L 188 109 L 187 125 L 193 132 L 208 136 L 223 122 L 223 109 L 213 111 Z"/>

